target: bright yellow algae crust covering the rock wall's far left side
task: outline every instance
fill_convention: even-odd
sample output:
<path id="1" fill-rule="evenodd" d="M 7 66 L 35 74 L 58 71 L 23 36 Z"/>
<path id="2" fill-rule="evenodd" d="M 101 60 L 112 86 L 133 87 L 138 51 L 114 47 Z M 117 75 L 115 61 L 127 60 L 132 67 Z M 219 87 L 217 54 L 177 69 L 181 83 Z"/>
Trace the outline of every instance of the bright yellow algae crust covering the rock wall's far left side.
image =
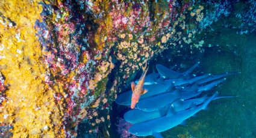
<path id="1" fill-rule="evenodd" d="M 0 1 L 1 16 L 15 23 L 0 23 L 0 71 L 10 85 L 0 123 L 13 125 L 13 137 L 64 136 L 63 107 L 44 83 L 42 50 L 35 35 L 34 23 L 42 11 L 39 2 Z"/>

